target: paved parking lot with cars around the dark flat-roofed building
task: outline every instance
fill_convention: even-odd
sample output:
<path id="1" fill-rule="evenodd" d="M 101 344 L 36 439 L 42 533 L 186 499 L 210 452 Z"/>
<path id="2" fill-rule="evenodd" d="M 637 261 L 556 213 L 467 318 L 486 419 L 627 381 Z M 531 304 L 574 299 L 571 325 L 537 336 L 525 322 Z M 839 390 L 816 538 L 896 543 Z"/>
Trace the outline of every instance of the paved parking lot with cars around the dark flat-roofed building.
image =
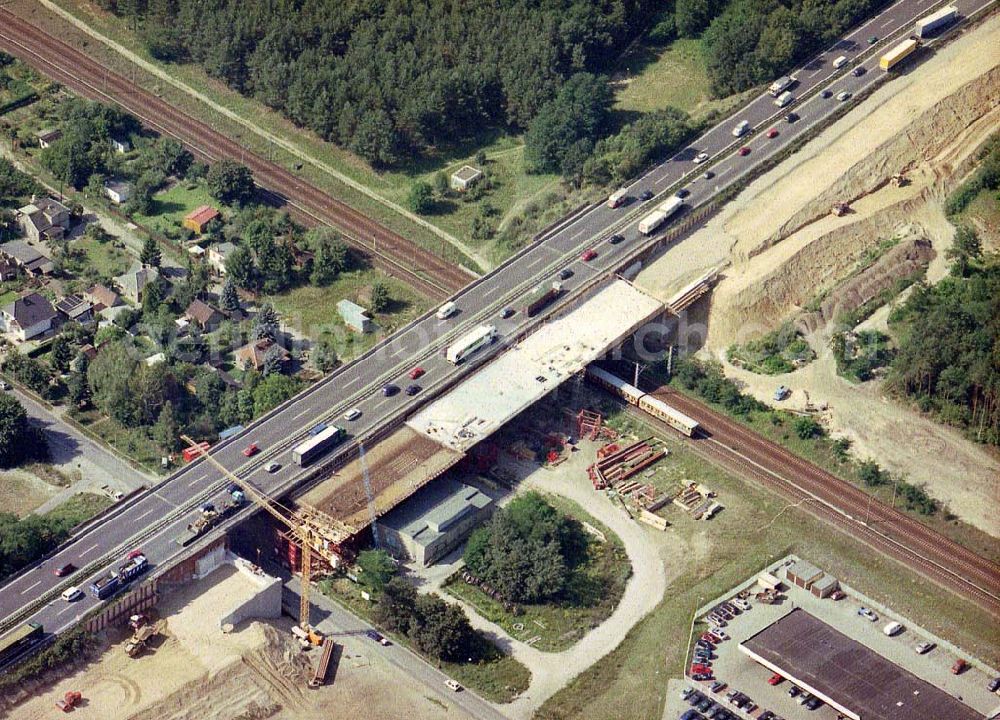
<path id="1" fill-rule="evenodd" d="M 786 720 L 804 717 L 816 720 L 837 720 L 839 714 L 833 708 L 821 705 L 816 710 L 810 711 L 798 702 L 802 699 L 801 694 L 798 698 L 790 697 L 789 691 L 792 689 L 792 683 L 788 680 L 775 679 L 775 684 L 769 684 L 768 680 L 774 673 L 752 660 L 739 649 L 741 641 L 757 634 L 795 608 L 805 610 L 904 670 L 962 700 L 985 716 L 992 715 L 1000 708 L 1000 696 L 991 693 L 987 688 L 989 681 L 998 673 L 981 666 L 979 663 L 972 662 L 970 667 L 961 674 L 953 674 L 951 668 L 960 655 L 941 638 L 924 633 L 920 628 L 909 623 L 906 618 L 887 613 L 884 608 L 873 605 L 867 598 L 859 596 L 850 588 L 842 587 L 847 596 L 841 600 L 817 598 L 808 590 L 787 581 L 784 561 L 782 564 L 772 566 L 771 572 L 782 581 L 778 602 L 767 605 L 755 601 L 754 593 L 761 590 L 755 582 L 749 582 L 742 586 L 751 590 L 747 600 L 750 609 L 734 615 L 726 621 L 727 624 L 723 630 L 729 639 L 718 643 L 714 650 L 711 650 L 713 679 L 725 683 L 726 687 L 718 688 L 716 692 L 712 692 L 710 690 L 711 681 L 689 679 L 689 684 L 692 687 L 713 701 L 711 707 L 706 702 L 701 703 L 702 708 L 708 709 L 707 714 L 697 707 L 697 703 L 695 704 L 696 711 L 701 713 L 703 717 L 716 718 L 717 720 L 726 720 L 729 715 L 737 718 L 755 719 L 762 716 L 765 718 L 776 716 Z M 736 597 L 736 593 L 740 589 L 736 588 L 728 597 L 720 598 L 719 601 L 712 603 L 709 609 L 716 607 L 723 600 Z M 860 616 L 858 610 L 861 607 L 871 609 L 873 616 L 877 619 L 871 620 Z M 902 631 L 893 637 L 889 637 L 883 632 L 883 628 L 890 622 L 898 622 L 903 627 Z M 697 641 L 700 635 L 707 630 L 708 624 L 704 622 L 704 616 L 702 616 L 694 627 L 694 641 Z M 915 646 L 921 642 L 932 643 L 932 649 L 923 654 L 918 653 Z M 697 644 L 693 644 L 692 654 L 697 650 Z M 968 656 L 961 657 L 972 661 L 972 658 Z M 697 662 L 697 658 L 693 657 L 692 662 Z M 690 666 L 688 669 L 691 669 Z M 727 697 L 734 691 L 751 699 L 752 705 L 744 705 L 744 708 L 752 707 L 750 712 L 737 708 L 733 700 Z M 691 707 L 691 700 L 698 699 L 695 696 L 681 700 L 678 691 L 673 692 L 672 695 L 674 697 L 668 703 L 668 707 L 671 709 L 666 715 L 667 718 L 671 719 L 681 717 Z M 766 711 L 775 715 L 767 715 Z M 696 716 L 690 715 L 689 717 L 695 718 Z"/>

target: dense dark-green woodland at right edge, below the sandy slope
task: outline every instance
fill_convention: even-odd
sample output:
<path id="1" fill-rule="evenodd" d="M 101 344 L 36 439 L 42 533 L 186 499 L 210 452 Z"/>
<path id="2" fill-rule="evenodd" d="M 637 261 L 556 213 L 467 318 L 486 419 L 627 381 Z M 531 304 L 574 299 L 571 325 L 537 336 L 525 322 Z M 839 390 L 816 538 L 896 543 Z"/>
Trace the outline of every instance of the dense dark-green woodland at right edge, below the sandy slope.
<path id="1" fill-rule="evenodd" d="M 899 349 L 887 387 L 1000 445 L 1000 257 L 964 227 L 949 255 L 951 276 L 917 285 L 890 315 Z"/>

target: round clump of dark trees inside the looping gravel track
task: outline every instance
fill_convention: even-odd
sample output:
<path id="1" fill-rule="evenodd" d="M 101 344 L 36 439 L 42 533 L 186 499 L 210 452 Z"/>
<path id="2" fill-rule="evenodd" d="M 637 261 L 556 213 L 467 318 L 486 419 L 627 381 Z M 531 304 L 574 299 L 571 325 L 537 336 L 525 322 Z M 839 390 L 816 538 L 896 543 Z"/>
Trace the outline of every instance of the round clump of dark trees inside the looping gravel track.
<path id="1" fill-rule="evenodd" d="M 559 513 L 538 493 L 527 493 L 497 510 L 469 538 L 464 560 L 480 580 L 512 602 L 553 600 L 573 568 L 587 557 L 580 523 Z"/>

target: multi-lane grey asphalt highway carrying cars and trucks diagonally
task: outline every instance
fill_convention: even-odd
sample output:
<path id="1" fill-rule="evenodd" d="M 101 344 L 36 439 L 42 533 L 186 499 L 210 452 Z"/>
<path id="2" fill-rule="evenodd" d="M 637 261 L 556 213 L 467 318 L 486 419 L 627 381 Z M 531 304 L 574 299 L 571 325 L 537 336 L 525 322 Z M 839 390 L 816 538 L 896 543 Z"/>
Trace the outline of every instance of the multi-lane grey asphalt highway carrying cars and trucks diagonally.
<path id="1" fill-rule="evenodd" d="M 968 15 L 990 3 L 986 0 L 959 0 L 955 4 L 963 15 Z M 779 110 L 774 106 L 773 98 L 766 94 L 754 99 L 677 155 L 632 183 L 628 188 L 630 194 L 638 196 L 649 189 L 665 196 L 683 184 L 690 191 L 686 198 L 689 206 L 697 207 L 705 203 L 809 128 L 845 108 L 845 103 L 833 97 L 824 99 L 810 93 L 829 85 L 834 95 L 841 90 L 857 94 L 883 81 L 885 75 L 877 69 L 878 55 L 890 43 L 869 48 L 867 38 L 873 34 L 884 38 L 897 28 L 908 30 L 913 20 L 927 14 L 931 7 L 936 6 L 929 0 L 900 0 L 890 6 L 866 26 L 854 30 L 833 48 L 793 73 L 799 79 L 793 92 L 797 97 L 805 96 L 803 101 Z M 873 30 L 872 27 L 879 29 Z M 860 77 L 850 74 L 853 63 L 840 70 L 831 66 L 832 58 L 838 55 L 853 58 L 862 53 L 869 53 L 869 56 L 863 63 L 867 72 Z M 794 110 L 800 120 L 793 124 L 772 120 L 773 117 L 780 118 L 788 110 Z M 751 150 L 745 157 L 731 152 L 730 147 L 736 142 L 731 129 L 743 119 L 749 120 L 757 130 L 748 139 L 741 139 L 741 144 Z M 779 129 L 780 134 L 767 139 L 766 131 L 772 125 Z M 727 148 L 730 149 L 728 154 L 725 153 Z M 707 163 L 696 165 L 692 159 L 700 152 L 707 152 L 712 157 Z M 710 181 L 698 179 L 709 167 L 714 177 Z M 636 252 L 640 241 L 644 240 L 637 231 L 638 221 L 652 209 L 654 202 L 662 199 L 642 203 L 636 197 L 622 208 L 613 210 L 599 205 L 568 219 L 563 226 L 555 228 L 510 261 L 459 292 L 454 297 L 460 308 L 456 316 L 438 320 L 433 313 L 429 313 L 419 318 L 384 339 L 358 360 L 339 368 L 275 409 L 240 436 L 221 443 L 213 451 L 215 457 L 265 492 L 273 493 L 291 487 L 301 477 L 302 470 L 291 462 L 290 449 L 317 422 L 336 419 L 338 424 L 348 429 L 350 439 L 358 440 L 366 438 L 388 420 L 411 412 L 441 386 L 470 371 L 469 366 L 454 367 L 442 357 L 450 340 L 477 324 L 489 321 L 497 325 L 501 335 L 501 342 L 492 349 L 492 352 L 498 352 L 505 342 L 512 341 L 532 324 L 521 313 L 509 319 L 500 318 L 501 308 L 513 306 L 518 296 L 542 280 L 547 282 L 553 279 L 562 268 L 573 272 L 572 277 L 564 281 L 569 292 L 563 296 L 563 301 L 575 299 L 573 292 L 584 283 L 619 268 L 629 255 Z M 668 224 L 665 229 L 669 227 Z M 607 243 L 605 240 L 611 232 L 621 233 L 625 240 L 616 245 Z M 598 254 L 593 260 L 584 262 L 579 259 L 579 254 L 588 247 L 594 247 Z M 485 358 L 488 352 L 483 351 L 480 355 Z M 478 358 L 477 362 L 483 358 Z M 418 381 L 423 386 L 423 392 L 415 397 L 408 397 L 402 392 L 393 397 L 382 395 L 381 388 L 386 383 L 394 383 L 400 388 L 410 384 L 412 381 L 407 373 L 416 365 L 426 371 L 426 375 Z M 358 407 L 362 416 L 354 422 L 341 420 L 343 413 L 351 407 Z M 247 459 L 242 450 L 250 442 L 257 443 L 262 452 Z M 267 473 L 264 465 L 272 460 L 281 463 L 281 468 L 275 473 Z M 169 564 L 182 552 L 173 538 L 193 518 L 197 505 L 218 496 L 225 485 L 214 469 L 199 461 L 124 505 L 117 515 L 74 538 L 54 557 L 0 588 L 0 618 L 4 618 L 0 621 L 0 632 L 10 629 L 15 616 L 17 621 L 27 619 L 27 612 L 19 611 L 36 598 L 41 604 L 30 608 L 31 619 L 43 623 L 50 632 L 69 627 L 98 601 L 88 593 L 82 600 L 66 603 L 59 599 L 56 591 L 70 583 L 86 588 L 93 579 L 106 573 L 109 566 L 117 565 L 122 555 L 134 545 L 141 544 L 154 567 Z M 66 563 L 77 567 L 97 563 L 100 569 L 93 567 L 71 578 L 55 577 L 53 569 Z"/>

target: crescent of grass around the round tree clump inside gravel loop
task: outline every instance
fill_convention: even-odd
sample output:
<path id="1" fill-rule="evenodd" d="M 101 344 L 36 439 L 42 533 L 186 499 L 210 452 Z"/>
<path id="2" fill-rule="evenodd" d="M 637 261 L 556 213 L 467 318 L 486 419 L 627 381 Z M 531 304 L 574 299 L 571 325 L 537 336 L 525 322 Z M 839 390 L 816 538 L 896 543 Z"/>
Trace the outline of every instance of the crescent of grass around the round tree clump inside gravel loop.
<path id="1" fill-rule="evenodd" d="M 520 605 L 514 615 L 478 587 L 456 574 L 445 590 L 476 608 L 487 620 L 500 625 L 512 637 L 522 641 L 538 638 L 537 650 L 558 652 L 575 644 L 591 629 L 610 617 L 625 592 L 632 568 L 621 540 L 575 502 L 546 495 L 557 510 L 581 522 L 588 522 L 604 533 L 606 542 L 592 538 L 586 561 L 577 567 L 566 597 L 558 602 Z"/>

